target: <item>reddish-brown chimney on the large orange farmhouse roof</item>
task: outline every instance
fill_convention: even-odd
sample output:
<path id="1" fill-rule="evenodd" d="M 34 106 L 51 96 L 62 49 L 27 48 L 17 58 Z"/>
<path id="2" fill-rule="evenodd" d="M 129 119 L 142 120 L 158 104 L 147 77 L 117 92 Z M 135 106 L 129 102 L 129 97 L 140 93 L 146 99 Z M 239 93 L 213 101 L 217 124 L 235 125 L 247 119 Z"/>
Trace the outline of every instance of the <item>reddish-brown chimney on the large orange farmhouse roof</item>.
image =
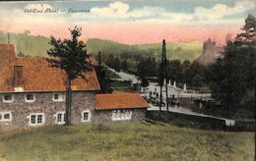
<path id="1" fill-rule="evenodd" d="M 24 87 L 23 66 L 14 66 L 14 87 Z"/>

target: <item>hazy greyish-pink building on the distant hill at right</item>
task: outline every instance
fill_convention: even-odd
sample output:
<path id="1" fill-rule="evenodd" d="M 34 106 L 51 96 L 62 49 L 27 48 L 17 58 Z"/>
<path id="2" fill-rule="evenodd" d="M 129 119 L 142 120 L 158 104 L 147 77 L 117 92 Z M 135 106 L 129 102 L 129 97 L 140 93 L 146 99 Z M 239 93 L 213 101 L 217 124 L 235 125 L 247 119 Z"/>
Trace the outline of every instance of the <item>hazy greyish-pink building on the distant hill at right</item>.
<path id="1" fill-rule="evenodd" d="M 223 56 L 224 47 L 217 45 L 215 41 L 209 38 L 204 42 L 203 52 L 197 59 L 197 62 L 203 65 L 213 64 L 218 58 Z"/>

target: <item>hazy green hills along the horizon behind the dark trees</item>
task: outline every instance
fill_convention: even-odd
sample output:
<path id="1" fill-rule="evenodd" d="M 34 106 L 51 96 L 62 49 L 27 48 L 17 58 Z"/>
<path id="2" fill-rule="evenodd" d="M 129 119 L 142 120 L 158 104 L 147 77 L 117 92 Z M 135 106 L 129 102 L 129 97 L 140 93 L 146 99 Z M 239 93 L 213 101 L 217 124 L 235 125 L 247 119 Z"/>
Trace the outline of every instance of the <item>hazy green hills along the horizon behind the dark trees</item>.
<path id="1" fill-rule="evenodd" d="M 7 43 L 7 33 L 0 31 L 0 43 Z M 18 55 L 47 56 L 46 51 L 50 48 L 49 38 L 44 36 L 33 36 L 29 30 L 23 33 L 10 33 L 10 41 L 15 44 Z M 128 55 L 146 55 L 154 56 L 160 60 L 161 44 L 140 44 L 127 45 L 110 40 L 89 39 L 87 42 L 89 54 L 96 56 L 101 51 L 103 59 L 110 54 L 118 56 L 120 54 Z M 166 44 L 167 58 L 178 59 L 181 61 L 194 61 L 197 59 L 203 49 L 203 43 L 200 41 L 171 42 Z"/>

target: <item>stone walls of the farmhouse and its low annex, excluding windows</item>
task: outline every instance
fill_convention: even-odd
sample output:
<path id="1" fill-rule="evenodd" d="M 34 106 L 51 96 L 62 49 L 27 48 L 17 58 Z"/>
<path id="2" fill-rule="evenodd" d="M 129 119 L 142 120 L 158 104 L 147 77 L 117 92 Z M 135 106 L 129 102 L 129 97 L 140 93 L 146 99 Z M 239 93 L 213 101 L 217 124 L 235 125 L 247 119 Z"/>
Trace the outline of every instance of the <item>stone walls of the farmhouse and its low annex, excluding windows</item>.
<path id="1" fill-rule="evenodd" d="M 11 121 L 0 121 L 0 131 L 24 129 L 31 127 L 29 125 L 30 114 L 43 113 L 45 122 L 43 125 L 56 125 L 56 112 L 65 112 L 65 100 L 62 102 L 54 102 L 52 100 L 54 92 L 33 92 L 35 94 L 35 101 L 28 103 L 25 101 L 27 93 L 11 93 L 14 96 L 12 103 L 4 103 L 2 95 L 0 94 L 0 113 L 11 112 Z M 59 92 L 58 92 L 59 93 Z M 65 92 L 62 92 L 65 95 Z M 110 123 L 113 110 L 95 110 L 96 94 L 95 92 L 73 91 L 72 94 L 72 111 L 71 124 L 98 124 Z M 81 122 L 82 112 L 90 110 L 90 122 Z M 132 117 L 126 122 L 142 121 L 145 118 L 147 109 L 126 109 L 132 111 Z M 114 121 L 123 122 L 123 121 Z"/>

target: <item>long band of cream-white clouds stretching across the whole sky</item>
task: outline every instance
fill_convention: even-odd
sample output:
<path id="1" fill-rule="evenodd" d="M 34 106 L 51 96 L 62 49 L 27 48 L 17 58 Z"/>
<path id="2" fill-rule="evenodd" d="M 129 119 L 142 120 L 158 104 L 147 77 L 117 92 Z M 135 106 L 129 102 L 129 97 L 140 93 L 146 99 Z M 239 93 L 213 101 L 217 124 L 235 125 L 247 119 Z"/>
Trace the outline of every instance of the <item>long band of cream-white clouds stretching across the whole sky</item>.
<path id="1" fill-rule="evenodd" d="M 194 6 L 191 13 L 174 12 L 167 7 L 130 7 L 124 2 L 110 2 L 105 7 L 93 7 L 87 14 L 29 14 L 25 9 L 55 8 L 47 2 L 26 3 L 24 8 L 12 8 L 11 3 L 0 3 L 0 29 L 22 30 L 31 27 L 71 26 L 85 24 L 151 23 L 173 25 L 242 25 L 244 17 L 236 17 L 255 9 L 253 1 L 236 2 L 233 6 L 221 3 L 211 8 Z M 8 7 L 6 7 L 8 6 Z M 11 9 L 10 9 L 11 8 Z M 232 18 L 228 18 L 228 16 Z"/>

